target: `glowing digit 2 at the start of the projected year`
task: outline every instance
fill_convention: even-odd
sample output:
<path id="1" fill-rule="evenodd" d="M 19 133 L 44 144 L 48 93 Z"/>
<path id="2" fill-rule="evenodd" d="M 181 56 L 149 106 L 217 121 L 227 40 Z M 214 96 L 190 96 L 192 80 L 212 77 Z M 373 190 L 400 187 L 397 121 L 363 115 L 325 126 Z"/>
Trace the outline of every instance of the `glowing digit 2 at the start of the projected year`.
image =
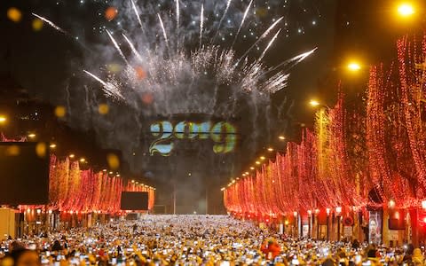
<path id="1" fill-rule="evenodd" d="M 173 143 L 170 142 L 173 126 L 169 121 L 156 122 L 151 125 L 151 133 L 158 137 L 149 147 L 149 153 L 160 153 L 162 156 L 169 156 L 173 150 Z M 165 144 L 168 143 L 168 144 Z"/>

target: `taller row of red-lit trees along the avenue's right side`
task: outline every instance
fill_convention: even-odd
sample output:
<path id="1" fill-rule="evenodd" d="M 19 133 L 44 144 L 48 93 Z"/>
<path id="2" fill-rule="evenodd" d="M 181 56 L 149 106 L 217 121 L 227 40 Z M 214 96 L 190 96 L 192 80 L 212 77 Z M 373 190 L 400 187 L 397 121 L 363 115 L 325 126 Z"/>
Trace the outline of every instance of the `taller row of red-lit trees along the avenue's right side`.
<path id="1" fill-rule="evenodd" d="M 362 207 L 420 207 L 426 199 L 426 38 L 398 40 L 398 59 L 372 66 L 358 107 L 343 93 L 288 143 L 224 191 L 240 215 L 310 214 Z M 340 91 L 344 90 L 341 88 Z"/>

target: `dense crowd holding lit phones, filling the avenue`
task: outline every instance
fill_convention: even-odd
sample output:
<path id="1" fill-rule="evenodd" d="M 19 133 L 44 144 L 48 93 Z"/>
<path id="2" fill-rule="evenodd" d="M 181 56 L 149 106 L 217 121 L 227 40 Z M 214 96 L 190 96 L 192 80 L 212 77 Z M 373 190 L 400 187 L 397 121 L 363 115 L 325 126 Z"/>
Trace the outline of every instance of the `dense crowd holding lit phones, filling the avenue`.
<path id="1" fill-rule="evenodd" d="M 423 265 L 424 250 L 290 239 L 224 215 L 144 215 L 1 243 L 1 264 Z"/>

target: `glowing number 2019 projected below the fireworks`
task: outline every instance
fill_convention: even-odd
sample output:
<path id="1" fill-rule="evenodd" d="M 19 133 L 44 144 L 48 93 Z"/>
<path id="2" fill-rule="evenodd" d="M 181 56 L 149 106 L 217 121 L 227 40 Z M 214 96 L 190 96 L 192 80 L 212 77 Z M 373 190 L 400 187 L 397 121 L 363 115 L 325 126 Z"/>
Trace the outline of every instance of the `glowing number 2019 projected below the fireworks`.
<path id="1" fill-rule="evenodd" d="M 231 153 L 237 142 L 236 129 L 225 121 L 216 124 L 180 121 L 175 126 L 170 121 L 159 121 L 151 124 L 151 133 L 157 137 L 149 147 L 151 155 L 169 156 L 174 148 L 173 139 L 211 139 L 214 153 Z"/>

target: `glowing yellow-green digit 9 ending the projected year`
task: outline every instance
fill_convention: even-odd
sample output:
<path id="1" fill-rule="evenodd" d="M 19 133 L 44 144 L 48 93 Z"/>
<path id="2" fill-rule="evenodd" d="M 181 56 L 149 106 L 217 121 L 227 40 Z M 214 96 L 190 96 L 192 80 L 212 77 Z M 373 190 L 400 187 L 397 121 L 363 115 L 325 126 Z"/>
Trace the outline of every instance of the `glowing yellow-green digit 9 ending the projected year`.
<path id="1" fill-rule="evenodd" d="M 218 122 L 210 131 L 211 139 L 216 143 L 213 145 L 214 153 L 230 153 L 236 145 L 236 130 L 227 122 Z"/>

